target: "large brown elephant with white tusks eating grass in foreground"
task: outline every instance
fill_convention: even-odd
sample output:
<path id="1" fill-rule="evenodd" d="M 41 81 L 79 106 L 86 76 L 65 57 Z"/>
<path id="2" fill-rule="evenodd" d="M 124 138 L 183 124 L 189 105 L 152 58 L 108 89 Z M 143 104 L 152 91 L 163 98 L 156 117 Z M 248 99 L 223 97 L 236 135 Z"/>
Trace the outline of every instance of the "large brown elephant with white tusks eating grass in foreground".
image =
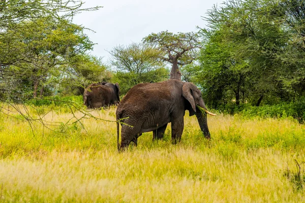
<path id="1" fill-rule="evenodd" d="M 142 132 L 153 131 L 153 139 L 162 138 L 169 122 L 172 127 L 172 142 L 174 144 L 179 142 L 184 129 L 186 110 L 189 110 L 190 116 L 197 116 L 201 131 L 209 139 L 207 116 L 199 108 L 210 115 L 215 115 L 206 110 L 201 91 L 193 83 L 173 79 L 135 85 L 127 92 L 116 110 L 117 121 L 127 124 L 121 127 L 119 145 L 119 123 L 117 122 L 118 150 L 124 149 L 130 142 L 136 144 Z M 127 119 L 122 120 L 124 118 Z"/>

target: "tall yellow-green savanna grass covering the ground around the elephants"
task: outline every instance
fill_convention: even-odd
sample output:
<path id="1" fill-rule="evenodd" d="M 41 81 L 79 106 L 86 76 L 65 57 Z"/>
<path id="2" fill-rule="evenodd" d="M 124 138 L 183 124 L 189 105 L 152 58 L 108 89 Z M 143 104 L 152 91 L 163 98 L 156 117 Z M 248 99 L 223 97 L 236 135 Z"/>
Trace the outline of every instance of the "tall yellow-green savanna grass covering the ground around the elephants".
<path id="1" fill-rule="evenodd" d="M 91 113 L 115 120 L 115 108 Z M 118 153 L 115 122 L 63 124 L 72 117 L 51 111 L 48 129 L 0 114 L 0 201 L 305 202 L 305 126 L 294 119 L 208 116 L 207 141 L 186 113 L 179 144 L 168 127 L 163 141 L 144 133 Z"/>

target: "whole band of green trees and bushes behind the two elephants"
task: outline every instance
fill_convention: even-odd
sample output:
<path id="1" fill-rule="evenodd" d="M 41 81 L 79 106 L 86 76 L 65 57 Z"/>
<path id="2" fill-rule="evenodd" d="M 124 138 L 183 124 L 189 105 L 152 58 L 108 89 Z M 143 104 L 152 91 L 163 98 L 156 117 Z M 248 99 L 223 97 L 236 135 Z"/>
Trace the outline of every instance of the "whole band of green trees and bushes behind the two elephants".
<path id="1" fill-rule="evenodd" d="M 1 4 L 4 102 L 41 105 L 33 98 L 82 95 L 88 84 L 100 81 L 118 82 L 123 96 L 138 83 L 168 79 L 169 53 L 179 52 L 182 80 L 201 89 L 210 109 L 304 120 L 302 1 L 224 2 L 207 11 L 208 28 L 151 33 L 141 42 L 113 47 L 108 61 L 90 54 L 94 42 L 84 34 L 86 28 L 72 23 L 77 13 L 99 7 L 83 9 L 72 1 Z"/>

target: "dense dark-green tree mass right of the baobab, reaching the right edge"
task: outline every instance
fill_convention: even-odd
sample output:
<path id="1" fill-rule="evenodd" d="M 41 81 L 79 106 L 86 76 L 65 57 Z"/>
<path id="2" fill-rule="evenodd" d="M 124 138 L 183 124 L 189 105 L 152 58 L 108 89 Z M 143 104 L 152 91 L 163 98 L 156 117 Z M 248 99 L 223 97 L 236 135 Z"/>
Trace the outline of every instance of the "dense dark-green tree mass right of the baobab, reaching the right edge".
<path id="1" fill-rule="evenodd" d="M 298 0 L 230 0 L 209 10 L 194 67 L 207 105 L 273 105 L 304 95 L 304 13 Z"/>

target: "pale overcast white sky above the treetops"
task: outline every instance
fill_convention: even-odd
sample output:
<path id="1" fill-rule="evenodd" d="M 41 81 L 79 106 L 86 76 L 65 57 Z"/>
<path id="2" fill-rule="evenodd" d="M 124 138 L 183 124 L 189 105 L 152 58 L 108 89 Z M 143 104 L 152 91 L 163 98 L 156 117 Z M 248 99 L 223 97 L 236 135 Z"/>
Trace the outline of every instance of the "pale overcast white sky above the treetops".
<path id="1" fill-rule="evenodd" d="M 223 0 L 84 0 L 84 7 L 102 6 L 98 11 L 83 12 L 74 18 L 74 23 L 93 29 L 85 33 L 97 43 L 93 55 L 109 58 L 117 45 L 140 42 L 151 32 L 158 33 L 197 31 L 205 27 L 207 10 Z"/>

